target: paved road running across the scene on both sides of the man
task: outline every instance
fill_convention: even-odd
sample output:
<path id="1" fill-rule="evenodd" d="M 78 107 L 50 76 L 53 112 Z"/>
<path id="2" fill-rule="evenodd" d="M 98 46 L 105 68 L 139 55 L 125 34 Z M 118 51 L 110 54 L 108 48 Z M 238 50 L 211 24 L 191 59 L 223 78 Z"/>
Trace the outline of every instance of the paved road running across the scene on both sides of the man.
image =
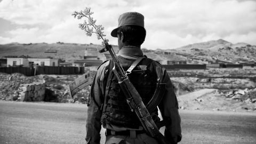
<path id="1" fill-rule="evenodd" d="M 86 109 L 0 101 L 0 143 L 85 143 Z M 180 143 L 256 143 L 256 113 L 182 110 L 180 115 Z"/>

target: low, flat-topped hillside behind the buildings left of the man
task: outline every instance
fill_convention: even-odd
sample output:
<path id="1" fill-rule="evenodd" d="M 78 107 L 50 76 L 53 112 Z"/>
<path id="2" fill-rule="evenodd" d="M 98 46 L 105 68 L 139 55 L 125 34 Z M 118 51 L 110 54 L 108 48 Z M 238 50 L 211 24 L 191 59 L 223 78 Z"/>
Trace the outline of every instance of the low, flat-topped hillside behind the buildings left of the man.
<path id="1" fill-rule="evenodd" d="M 117 46 L 113 46 L 117 49 Z M 73 44 L 73 43 L 35 43 L 19 44 L 10 43 L 0 45 L 0 58 L 6 56 L 28 55 L 29 57 L 53 57 L 55 59 L 79 60 L 83 59 L 86 48 L 97 48 L 100 50 L 101 45 L 95 44 Z M 46 51 L 57 51 L 57 53 L 45 53 Z M 100 57 L 100 54 L 99 54 Z"/>

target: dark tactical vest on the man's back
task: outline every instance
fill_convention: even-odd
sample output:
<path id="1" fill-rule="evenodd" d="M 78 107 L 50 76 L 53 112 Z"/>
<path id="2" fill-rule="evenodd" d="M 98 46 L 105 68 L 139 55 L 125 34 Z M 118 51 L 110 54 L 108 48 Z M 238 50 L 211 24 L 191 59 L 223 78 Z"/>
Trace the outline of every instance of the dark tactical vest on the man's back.
<path id="1" fill-rule="evenodd" d="M 125 71 L 129 69 L 133 63 L 130 59 L 120 56 L 117 58 L 120 63 L 122 63 L 122 67 Z M 118 84 L 114 71 L 112 71 L 113 67 L 114 62 L 110 61 L 110 72 L 106 85 L 106 95 L 102 109 L 101 122 L 138 128 L 139 125 L 141 125 L 140 121 L 126 103 L 125 95 Z M 135 89 L 139 92 L 143 103 L 147 105 L 154 95 L 157 83 L 157 75 L 153 65 L 153 60 L 148 58 L 141 60 L 128 77 Z M 150 114 L 156 114 L 155 116 L 157 116 L 157 107 L 153 109 L 154 110 L 149 111 Z M 159 120 L 158 117 L 157 120 Z"/>

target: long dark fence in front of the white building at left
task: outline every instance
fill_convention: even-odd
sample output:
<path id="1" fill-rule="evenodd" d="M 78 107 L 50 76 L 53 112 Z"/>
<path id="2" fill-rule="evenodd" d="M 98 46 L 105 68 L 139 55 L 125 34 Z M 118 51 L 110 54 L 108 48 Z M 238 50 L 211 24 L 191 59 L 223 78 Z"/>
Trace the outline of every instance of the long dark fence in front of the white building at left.
<path id="1" fill-rule="evenodd" d="M 38 67 L 36 75 L 46 74 L 46 75 L 70 75 L 70 74 L 84 74 L 84 67 Z M 35 68 L 29 67 L 0 67 L 0 73 L 21 73 L 26 76 L 33 76 L 35 73 Z"/>

